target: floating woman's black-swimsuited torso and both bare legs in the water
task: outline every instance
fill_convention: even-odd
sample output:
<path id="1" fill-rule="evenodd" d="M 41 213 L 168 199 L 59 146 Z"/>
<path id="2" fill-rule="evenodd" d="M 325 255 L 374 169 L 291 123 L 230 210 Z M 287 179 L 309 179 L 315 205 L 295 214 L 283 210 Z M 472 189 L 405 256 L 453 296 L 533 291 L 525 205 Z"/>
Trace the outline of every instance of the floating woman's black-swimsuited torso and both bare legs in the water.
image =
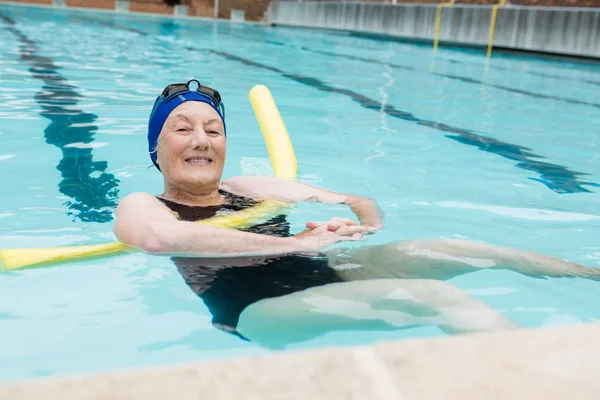
<path id="1" fill-rule="evenodd" d="M 226 202 L 216 206 L 159 200 L 181 221 L 198 221 L 257 203 L 222 189 L 219 192 Z M 245 231 L 292 236 L 284 215 Z M 312 254 L 172 260 L 186 284 L 204 301 L 216 327 L 272 348 L 310 340 L 333 329 L 427 325 L 448 333 L 511 329 L 516 327 L 512 321 L 441 280 L 484 268 L 513 269 L 532 277 L 593 278 L 598 274 L 553 257 L 461 240 L 411 240 Z"/>

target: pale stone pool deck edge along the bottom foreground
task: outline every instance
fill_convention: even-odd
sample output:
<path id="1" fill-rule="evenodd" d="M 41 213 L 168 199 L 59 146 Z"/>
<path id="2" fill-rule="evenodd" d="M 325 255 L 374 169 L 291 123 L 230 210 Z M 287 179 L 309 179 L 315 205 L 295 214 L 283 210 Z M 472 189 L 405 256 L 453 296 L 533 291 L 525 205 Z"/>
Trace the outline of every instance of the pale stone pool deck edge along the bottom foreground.
<path id="1" fill-rule="evenodd" d="M 0 399 L 597 399 L 600 324 L 45 378 Z"/>

